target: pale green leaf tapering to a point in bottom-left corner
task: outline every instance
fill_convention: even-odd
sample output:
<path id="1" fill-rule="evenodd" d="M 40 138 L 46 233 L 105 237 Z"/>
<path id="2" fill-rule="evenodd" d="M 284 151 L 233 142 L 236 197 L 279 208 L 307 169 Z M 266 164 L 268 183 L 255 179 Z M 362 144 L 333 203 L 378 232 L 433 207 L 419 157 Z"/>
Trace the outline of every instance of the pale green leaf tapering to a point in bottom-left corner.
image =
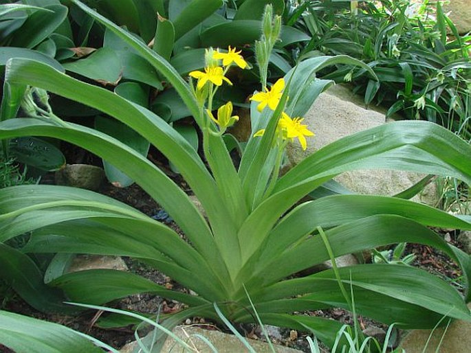
<path id="1" fill-rule="evenodd" d="M 65 326 L 0 310 L 0 343 L 17 353 L 100 353 L 96 345 Z"/>

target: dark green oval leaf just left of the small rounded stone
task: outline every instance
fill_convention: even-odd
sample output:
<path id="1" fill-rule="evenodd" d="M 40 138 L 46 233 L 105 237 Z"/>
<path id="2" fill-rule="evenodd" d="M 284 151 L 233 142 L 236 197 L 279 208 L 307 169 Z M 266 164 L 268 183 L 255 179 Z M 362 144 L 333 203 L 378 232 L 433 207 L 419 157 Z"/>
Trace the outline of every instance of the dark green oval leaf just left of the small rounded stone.
<path id="1" fill-rule="evenodd" d="M 65 157 L 53 144 L 35 137 L 19 137 L 10 141 L 10 152 L 27 166 L 54 171 L 65 166 Z"/>

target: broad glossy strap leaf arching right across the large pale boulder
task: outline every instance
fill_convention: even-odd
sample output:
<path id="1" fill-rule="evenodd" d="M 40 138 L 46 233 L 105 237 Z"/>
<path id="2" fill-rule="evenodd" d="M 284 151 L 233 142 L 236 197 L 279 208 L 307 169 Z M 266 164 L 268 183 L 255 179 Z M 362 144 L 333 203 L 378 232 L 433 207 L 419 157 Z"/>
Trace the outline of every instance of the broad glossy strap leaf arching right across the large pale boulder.
<path id="1" fill-rule="evenodd" d="M 341 172 L 399 169 L 456 177 L 471 183 L 471 146 L 428 122 L 395 122 L 344 137 L 307 157 L 283 176 L 274 194 L 239 231 L 247 260 L 293 203 Z"/>

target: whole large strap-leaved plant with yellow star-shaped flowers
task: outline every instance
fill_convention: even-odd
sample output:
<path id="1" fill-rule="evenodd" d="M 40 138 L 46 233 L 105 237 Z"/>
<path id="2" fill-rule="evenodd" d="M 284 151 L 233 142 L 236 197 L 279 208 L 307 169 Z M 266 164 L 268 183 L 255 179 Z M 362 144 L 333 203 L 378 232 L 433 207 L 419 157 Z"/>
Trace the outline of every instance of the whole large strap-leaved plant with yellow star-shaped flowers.
<path id="1" fill-rule="evenodd" d="M 213 111 L 211 102 L 217 87 L 229 84 L 225 71 L 234 66 L 229 63 L 230 58 L 243 66 L 240 53 L 234 48 L 228 53 L 208 51 L 207 67 L 193 71 L 190 76 L 197 82 L 188 83 L 146 45 L 79 1 L 74 3 L 127 41 L 175 87 L 203 132 L 209 169 L 190 144 L 157 115 L 40 62 L 8 62 L 2 113 L 11 115 L 17 109 L 26 85 L 99 109 L 162 151 L 186 179 L 206 215 L 153 163 L 97 130 L 72 123 L 57 124 L 44 117 L 1 122 L 3 139 L 22 135 L 57 137 L 109 161 L 153 196 L 188 238 L 183 240 L 173 229 L 132 207 L 87 190 L 49 185 L 1 190 L 1 240 L 25 231 L 33 233 L 23 252 L 1 245 L 0 273 L 15 280 L 17 291 L 32 305 L 43 309 L 60 307 L 56 302 L 60 298 L 50 292 L 51 287 L 63 290 L 70 301 L 87 304 L 149 292 L 188 306 L 167 322 L 175 323 L 191 315 L 217 320 L 214 304 L 232 321 L 253 322 L 256 319 L 248 293 L 263 323 L 300 330 L 307 327 L 331 344 L 340 323 L 293 312 L 349 308 L 349 299 L 338 286 L 338 275 L 344 286 L 351 286 L 356 310 L 385 323 L 426 328 L 434 326 L 443 315 L 471 320 L 465 306 L 465 300 L 470 299 L 468 292 L 463 300 L 446 282 L 410 266 L 369 264 L 339 269 L 337 273 L 328 270 L 292 277 L 329 260 L 331 255 L 396 242 L 419 242 L 447 253 L 468 280 L 469 256 L 426 226 L 471 229 L 469 218 L 384 196 L 328 196 L 294 207 L 303 196 L 337 174 L 360 168 L 446 174 L 470 183 L 468 144 L 435 124 L 397 122 L 336 141 L 278 178 L 280 151 L 287 141 L 298 138 L 305 144 L 305 136 L 311 135 L 300 119 L 291 117 L 302 116 L 329 84 L 315 78 L 316 70 L 338 62 L 361 65 L 345 56 L 323 56 L 300 62 L 284 80 L 270 89 L 262 87 L 262 94 L 252 97 L 253 134 L 239 168 L 235 168 L 221 135 L 237 117 L 232 115 L 229 102 L 218 112 Z M 257 109 L 260 103 L 261 112 Z M 58 253 L 47 272 L 47 285 L 42 279 L 32 280 L 39 274 L 24 255 L 28 252 Z M 120 271 L 63 274 L 64 266 L 60 265 L 67 253 L 130 256 L 155 266 L 197 295 L 171 291 Z M 34 286 L 19 285 L 26 273 L 22 269 L 26 268 L 30 271 L 28 283 Z M 45 294 L 56 301 L 45 300 Z"/>

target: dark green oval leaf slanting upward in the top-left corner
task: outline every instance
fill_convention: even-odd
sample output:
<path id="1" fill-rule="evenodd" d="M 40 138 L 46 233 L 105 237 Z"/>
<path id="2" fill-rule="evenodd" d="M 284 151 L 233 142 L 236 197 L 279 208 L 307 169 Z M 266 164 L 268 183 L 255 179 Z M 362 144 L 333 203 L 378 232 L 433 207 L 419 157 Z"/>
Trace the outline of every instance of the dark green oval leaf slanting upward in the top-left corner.
<path id="1" fill-rule="evenodd" d="M 12 47 L 33 48 L 45 40 L 54 32 L 67 17 L 67 7 L 63 5 L 49 5 L 44 7 L 47 11 L 36 11 L 28 16 L 21 26 L 21 30 L 15 33 L 12 39 Z"/>

